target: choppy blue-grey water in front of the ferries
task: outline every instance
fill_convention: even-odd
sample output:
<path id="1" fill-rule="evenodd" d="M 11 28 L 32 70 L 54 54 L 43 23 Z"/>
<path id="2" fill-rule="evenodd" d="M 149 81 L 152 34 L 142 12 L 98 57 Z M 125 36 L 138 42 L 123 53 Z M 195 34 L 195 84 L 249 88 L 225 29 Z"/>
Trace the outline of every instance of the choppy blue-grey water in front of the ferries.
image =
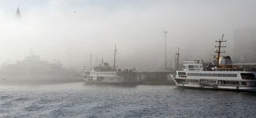
<path id="1" fill-rule="evenodd" d="M 174 86 L 2 86 L 0 117 L 255 117 L 256 94 Z"/>

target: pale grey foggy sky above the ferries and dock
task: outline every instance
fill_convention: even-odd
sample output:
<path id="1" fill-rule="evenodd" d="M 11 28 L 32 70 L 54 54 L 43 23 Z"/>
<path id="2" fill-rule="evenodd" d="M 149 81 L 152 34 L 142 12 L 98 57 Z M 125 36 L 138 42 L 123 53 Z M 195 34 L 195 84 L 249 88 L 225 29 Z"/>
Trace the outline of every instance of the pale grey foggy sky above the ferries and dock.
<path id="1" fill-rule="evenodd" d="M 15 13 L 20 8 L 21 18 Z M 254 0 L 2 0 L 0 64 L 23 60 L 33 50 L 43 60 L 72 68 L 113 64 L 120 68 L 168 67 L 180 47 L 180 61 L 210 60 L 214 40 L 224 34 L 232 56 L 234 31 L 255 27 Z"/>

